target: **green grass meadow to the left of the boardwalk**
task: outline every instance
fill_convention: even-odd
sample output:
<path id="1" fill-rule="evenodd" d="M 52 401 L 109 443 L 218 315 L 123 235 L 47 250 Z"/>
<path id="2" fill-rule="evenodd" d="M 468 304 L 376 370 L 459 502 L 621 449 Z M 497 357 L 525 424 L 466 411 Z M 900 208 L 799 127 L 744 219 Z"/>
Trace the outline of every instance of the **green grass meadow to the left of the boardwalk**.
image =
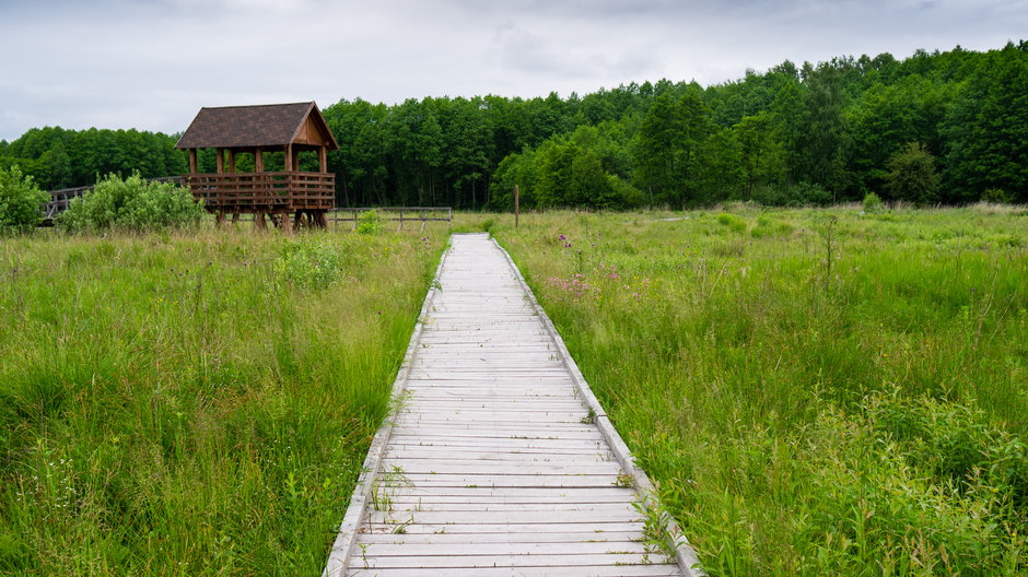
<path id="1" fill-rule="evenodd" d="M 0 574 L 317 575 L 435 228 L 0 240 Z"/>

